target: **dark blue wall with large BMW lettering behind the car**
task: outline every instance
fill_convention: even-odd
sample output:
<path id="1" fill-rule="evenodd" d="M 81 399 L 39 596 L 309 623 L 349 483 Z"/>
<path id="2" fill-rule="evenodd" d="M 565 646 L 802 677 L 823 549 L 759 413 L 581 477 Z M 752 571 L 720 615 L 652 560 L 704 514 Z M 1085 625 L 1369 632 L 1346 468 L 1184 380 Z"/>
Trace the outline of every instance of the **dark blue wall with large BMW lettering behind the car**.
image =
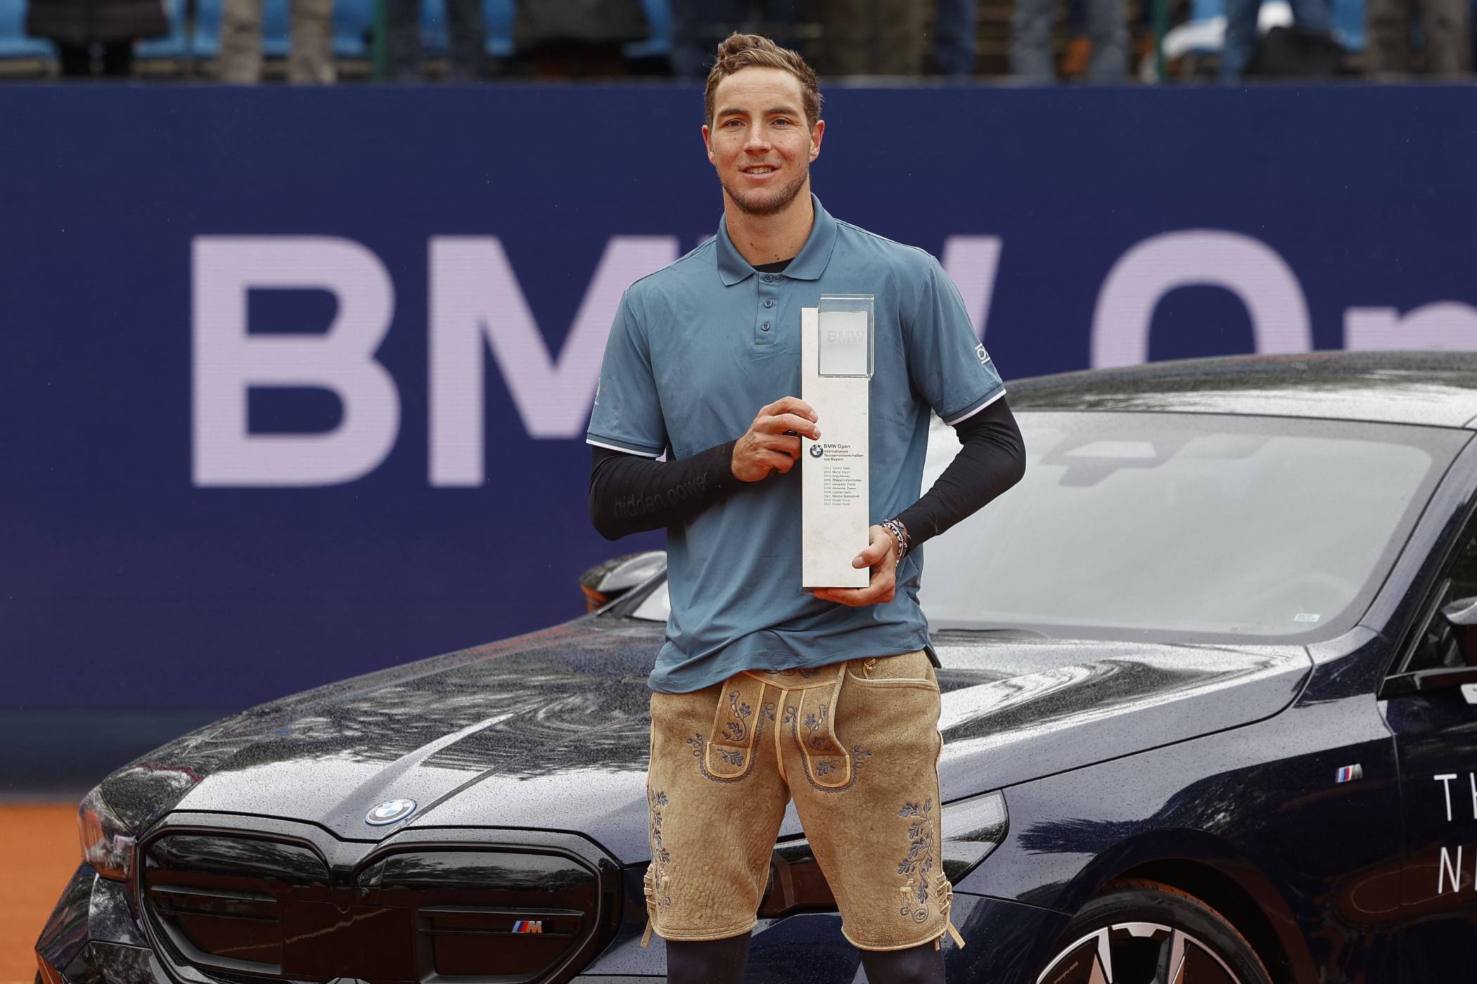
<path id="1" fill-rule="evenodd" d="M 942 257 L 1007 382 L 1477 345 L 1474 109 L 836 87 L 814 183 Z M 721 214 L 700 112 L 0 89 L 0 704 L 245 707 L 570 617 L 659 546 L 589 528 L 580 435 L 620 289 Z"/>

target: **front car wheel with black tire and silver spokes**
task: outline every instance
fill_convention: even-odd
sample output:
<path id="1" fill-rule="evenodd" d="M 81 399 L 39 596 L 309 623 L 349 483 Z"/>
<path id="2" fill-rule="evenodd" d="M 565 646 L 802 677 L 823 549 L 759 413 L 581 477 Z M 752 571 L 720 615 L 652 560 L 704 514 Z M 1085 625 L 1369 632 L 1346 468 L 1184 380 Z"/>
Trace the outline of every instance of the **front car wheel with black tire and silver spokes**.
<path id="1" fill-rule="evenodd" d="M 1072 916 L 1035 984 L 1272 984 L 1214 906 L 1148 878 L 1118 878 Z"/>

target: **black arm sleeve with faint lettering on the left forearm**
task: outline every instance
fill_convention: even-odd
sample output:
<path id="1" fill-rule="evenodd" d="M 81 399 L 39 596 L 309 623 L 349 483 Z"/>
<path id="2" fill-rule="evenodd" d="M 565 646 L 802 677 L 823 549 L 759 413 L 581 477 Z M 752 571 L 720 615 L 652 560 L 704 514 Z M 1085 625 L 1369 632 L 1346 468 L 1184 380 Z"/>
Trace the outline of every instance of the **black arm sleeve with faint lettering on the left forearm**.
<path id="1" fill-rule="evenodd" d="M 737 441 L 676 462 L 591 446 L 589 521 L 607 540 L 672 527 L 696 516 L 738 485 L 733 472 Z"/>

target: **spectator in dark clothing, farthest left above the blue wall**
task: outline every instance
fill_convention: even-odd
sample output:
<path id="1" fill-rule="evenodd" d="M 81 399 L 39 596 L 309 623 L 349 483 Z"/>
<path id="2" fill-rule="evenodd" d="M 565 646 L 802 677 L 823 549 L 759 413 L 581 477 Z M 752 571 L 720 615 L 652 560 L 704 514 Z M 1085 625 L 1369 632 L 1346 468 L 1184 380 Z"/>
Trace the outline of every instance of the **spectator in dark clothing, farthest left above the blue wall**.
<path id="1" fill-rule="evenodd" d="M 31 0 L 25 32 L 56 46 L 64 77 L 92 75 L 93 49 L 100 49 L 102 74 L 114 78 L 133 71 L 133 44 L 168 32 L 160 0 Z"/>

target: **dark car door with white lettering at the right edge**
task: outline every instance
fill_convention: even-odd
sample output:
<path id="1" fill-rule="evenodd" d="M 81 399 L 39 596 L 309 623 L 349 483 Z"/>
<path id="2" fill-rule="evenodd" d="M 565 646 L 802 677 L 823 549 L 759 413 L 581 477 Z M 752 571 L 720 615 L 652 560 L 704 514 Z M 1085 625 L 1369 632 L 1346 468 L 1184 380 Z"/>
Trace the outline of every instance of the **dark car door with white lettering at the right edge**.
<path id="1" fill-rule="evenodd" d="M 1400 766 L 1406 980 L 1455 981 L 1477 952 L 1477 633 L 1445 608 L 1477 597 L 1468 515 L 1381 689 Z"/>

